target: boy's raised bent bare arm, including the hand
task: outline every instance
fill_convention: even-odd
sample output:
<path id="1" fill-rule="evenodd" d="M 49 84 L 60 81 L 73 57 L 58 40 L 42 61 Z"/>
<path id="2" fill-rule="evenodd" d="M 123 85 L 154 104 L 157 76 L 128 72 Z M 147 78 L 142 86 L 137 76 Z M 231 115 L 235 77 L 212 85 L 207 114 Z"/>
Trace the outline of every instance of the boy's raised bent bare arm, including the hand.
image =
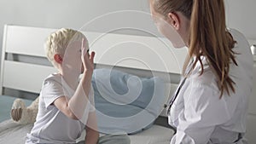
<path id="1" fill-rule="evenodd" d="M 82 43 L 84 43 L 84 40 Z M 84 115 L 84 110 L 89 101 L 91 77 L 94 70 L 94 56 L 95 52 L 92 52 L 91 55 L 89 55 L 87 49 L 84 49 L 82 44 L 81 59 L 84 66 L 83 77 L 70 100 L 68 100 L 66 96 L 61 96 L 54 101 L 55 107 L 63 112 L 68 118 L 80 119 Z"/>

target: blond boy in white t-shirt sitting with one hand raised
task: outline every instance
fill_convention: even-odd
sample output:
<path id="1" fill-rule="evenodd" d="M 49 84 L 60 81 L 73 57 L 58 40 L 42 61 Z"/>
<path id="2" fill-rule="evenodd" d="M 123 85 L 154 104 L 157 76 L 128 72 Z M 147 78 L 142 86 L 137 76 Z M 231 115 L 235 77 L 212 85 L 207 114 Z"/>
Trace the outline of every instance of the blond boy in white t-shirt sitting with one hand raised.
<path id="1" fill-rule="evenodd" d="M 26 135 L 26 144 L 75 144 L 84 128 L 86 135 L 79 144 L 130 143 L 127 135 L 99 138 L 90 84 L 95 53 L 89 55 L 88 47 L 86 37 L 72 29 L 62 28 L 48 37 L 47 57 L 58 72 L 44 79 L 37 120 Z"/>

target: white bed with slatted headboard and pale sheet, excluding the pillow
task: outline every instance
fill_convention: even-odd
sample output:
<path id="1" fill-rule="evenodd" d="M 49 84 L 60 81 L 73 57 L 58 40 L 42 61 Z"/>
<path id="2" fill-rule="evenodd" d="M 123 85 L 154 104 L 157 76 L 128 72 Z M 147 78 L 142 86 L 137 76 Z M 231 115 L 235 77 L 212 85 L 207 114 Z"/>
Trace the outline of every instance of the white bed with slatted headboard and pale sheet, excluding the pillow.
<path id="1" fill-rule="evenodd" d="M 15 99 L 14 96 L 26 95 L 26 99 L 31 100 L 38 96 L 44 78 L 55 72 L 44 55 L 44 41 L 51 32 L 55 29 L 4 26 L 0 100 L 6 97 L 3 95 L 8 95 L 10 101 Z M 166 38 L 153 35 L 82 32 L 88 38 L 90 49 L 96 51 L 96 69 L 114 69 L 139 78 L 161 78 L 166 88 L 165 101 L 172 96 L 179 82 L 186 49 L 173 49 Z M 252 99 L 255 100 L 255 90 Z M 129 135 L 131 144 L 169 144 L 174 130 L 168 126 L 165 113 L 162 105 L 154 124 Z M 255 141 L 255 118 L 255 107 L 250 103 L 248 124 L 252 127 L 248 126 L 247 134 L 250 141 Z M 7 119 L 0 124 L 0 143 L 24 143 L 25 135 L 31 129 L 32 124 L 20 125 Z"/>

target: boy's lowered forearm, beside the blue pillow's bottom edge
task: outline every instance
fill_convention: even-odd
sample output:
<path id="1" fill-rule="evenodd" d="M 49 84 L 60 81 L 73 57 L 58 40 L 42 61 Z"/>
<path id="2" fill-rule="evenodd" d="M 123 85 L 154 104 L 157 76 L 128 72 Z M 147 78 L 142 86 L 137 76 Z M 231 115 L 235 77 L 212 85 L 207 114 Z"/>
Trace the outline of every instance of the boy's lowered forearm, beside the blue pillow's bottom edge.
<path id="1" fill-rule="evenodd" d="M 88 116 L 88 121 L 86 124 L 86 135 L 85 143 L 86 144 L 96 144 L 99 138 L 99 132 L 96 124 L 96 112 L 90 112 Z"/>

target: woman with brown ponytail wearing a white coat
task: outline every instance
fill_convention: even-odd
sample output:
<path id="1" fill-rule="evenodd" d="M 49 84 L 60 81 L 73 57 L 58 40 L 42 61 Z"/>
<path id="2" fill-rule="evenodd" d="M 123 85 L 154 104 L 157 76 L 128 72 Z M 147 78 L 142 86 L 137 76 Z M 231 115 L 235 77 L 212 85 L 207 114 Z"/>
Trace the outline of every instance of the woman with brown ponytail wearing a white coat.
<path id="1" fill-rule="evenodd" d="M 247 143 L 247 98 L 253 87 L 253 56 L 246 38 L 225 25 L 224 0 L 150 0 L 159 31 L 188 62 L 168 103 L 171 144 Z"/>

